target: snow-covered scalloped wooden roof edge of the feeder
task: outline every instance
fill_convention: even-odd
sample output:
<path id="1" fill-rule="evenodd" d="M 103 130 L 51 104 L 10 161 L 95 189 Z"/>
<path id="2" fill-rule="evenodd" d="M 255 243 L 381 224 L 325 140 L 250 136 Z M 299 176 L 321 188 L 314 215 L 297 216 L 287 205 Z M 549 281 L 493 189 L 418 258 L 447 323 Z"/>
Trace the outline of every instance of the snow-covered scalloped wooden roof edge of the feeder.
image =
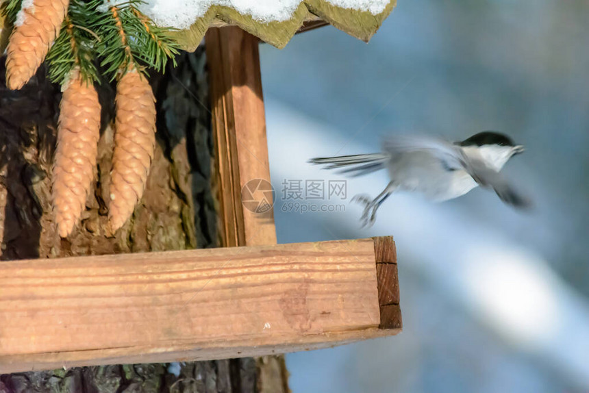
<path id="1" fill-rule="evenodd" d="M 145 0 L 141 11 L 160 26 L 180 29 L 178 39 L 194 50 L 210 25 L 239 25 L 284 47 L 304 21 L 316 18 L 368 40 L 396 0 Z"/>

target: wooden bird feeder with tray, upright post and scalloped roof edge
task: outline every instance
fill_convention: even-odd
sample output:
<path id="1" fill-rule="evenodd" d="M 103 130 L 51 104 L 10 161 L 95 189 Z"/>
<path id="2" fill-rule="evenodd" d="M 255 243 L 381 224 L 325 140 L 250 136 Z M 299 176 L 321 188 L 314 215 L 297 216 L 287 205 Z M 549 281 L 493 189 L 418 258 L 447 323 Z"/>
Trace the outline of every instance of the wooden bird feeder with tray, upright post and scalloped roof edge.
<path id="1" fill-rule="evenodd" d="M 259 40 L 283 47 L 329 23 L 368 40 L 381 14 L 305 0 L 289 21 L 214 6 L 179 37 L 205 35 L 221 249 L 0 263 L 0 373 L 247 357 L 401 331 L 392 238 L 276 244 L 273 212 L 242 205 L 270 181 Z M 245 31 L 247 30 L 247 31 Z M 206 33 L 205 33 L 206 32 Z"/>

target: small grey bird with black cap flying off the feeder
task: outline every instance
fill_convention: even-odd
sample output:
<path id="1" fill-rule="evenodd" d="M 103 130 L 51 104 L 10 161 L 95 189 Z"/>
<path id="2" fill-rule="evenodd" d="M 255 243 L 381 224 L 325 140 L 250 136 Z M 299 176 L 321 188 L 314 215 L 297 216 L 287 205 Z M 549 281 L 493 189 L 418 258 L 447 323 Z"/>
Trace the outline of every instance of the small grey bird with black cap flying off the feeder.
<path id="1" fill-rule="evenodd" d="M 362 223 L 371 226 L 380 205 L 397 190 L 447 201 L 481 186 L 494 190 L 508 205 L 529 207 L 529 199 L 500 173 L 511 157 L 523 151 L 509 136 L 484 131 L 460 142 L 433 136 L 390 136 L 382 141 L 381 153 L 318 157 L 309 162 L 352 177 L 388 171 L 390 181 L 376 198 L 360 194 L 352 199 L 364 205 Z"/>

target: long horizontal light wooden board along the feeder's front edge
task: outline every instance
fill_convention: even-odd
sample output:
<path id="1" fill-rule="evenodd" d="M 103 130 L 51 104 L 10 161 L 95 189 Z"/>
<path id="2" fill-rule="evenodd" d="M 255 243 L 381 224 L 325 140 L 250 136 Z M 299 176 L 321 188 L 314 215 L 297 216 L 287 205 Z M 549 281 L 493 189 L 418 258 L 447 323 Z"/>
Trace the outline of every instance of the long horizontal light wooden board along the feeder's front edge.
<path id="1" fill-rule="evenodd" d="M 268 355 L 379 329 L 373 239 L 0 264 L 0 372 Z"/>

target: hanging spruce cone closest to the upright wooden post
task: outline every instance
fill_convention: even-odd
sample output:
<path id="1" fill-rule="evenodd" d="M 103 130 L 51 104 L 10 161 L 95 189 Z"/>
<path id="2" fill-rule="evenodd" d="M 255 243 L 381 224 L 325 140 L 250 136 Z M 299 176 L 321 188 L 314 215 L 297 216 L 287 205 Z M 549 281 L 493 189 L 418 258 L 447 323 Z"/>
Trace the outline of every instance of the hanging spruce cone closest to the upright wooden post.
<path id="1" fill-rule="evenodd" d="M 155 97 L 149 82 L 129 71 L 116 85 L 114 154 L 108 219 L 112 231 L 125 224 L 141 199 L 155 149 Z"/>

